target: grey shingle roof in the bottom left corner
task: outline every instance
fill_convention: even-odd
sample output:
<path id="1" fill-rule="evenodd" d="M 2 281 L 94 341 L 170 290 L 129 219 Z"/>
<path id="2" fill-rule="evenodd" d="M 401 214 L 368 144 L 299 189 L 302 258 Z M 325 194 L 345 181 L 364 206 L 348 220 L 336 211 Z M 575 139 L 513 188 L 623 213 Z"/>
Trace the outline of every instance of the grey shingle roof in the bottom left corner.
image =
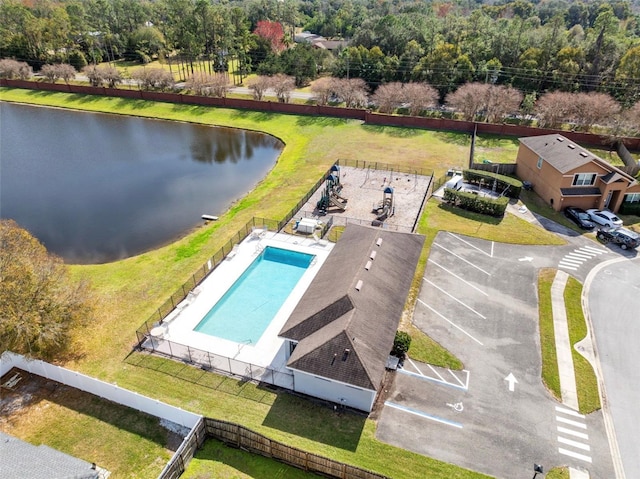
<path id="1" fill-rule="evenodd" d="M 2 479 L 97 479 L 95 465 L 0 432 Z"/>

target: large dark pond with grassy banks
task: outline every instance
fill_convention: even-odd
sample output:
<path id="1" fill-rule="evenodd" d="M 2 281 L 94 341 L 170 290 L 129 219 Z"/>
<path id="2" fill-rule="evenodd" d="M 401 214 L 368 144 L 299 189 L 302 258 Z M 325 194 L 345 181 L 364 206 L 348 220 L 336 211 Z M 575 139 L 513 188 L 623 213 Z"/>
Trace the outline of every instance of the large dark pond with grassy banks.
<path id="1" fill-rule="evenodd" d="M 0 140 L 0 217 L 79 264 L 148 251 L 221 215 L 283 148 L 245 130 L 4 102 Z"/>

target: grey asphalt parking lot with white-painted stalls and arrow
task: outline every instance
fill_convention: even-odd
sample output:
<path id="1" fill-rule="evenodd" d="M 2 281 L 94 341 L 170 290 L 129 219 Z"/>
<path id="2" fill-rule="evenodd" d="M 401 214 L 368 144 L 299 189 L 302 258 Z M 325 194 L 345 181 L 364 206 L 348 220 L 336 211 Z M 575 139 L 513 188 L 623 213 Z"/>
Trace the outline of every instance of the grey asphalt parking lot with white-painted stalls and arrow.
<path id="1" fill-rule="evenodd" d="M 537 271 L 557 267 L 571 248 L 439 233 L 414 323 L 465 367 L 405 361 L 378 438 L 495 477 L 528 477 L 534 462 L 613 477 L 601 413 L 563 407 L 540 379 Z"/>

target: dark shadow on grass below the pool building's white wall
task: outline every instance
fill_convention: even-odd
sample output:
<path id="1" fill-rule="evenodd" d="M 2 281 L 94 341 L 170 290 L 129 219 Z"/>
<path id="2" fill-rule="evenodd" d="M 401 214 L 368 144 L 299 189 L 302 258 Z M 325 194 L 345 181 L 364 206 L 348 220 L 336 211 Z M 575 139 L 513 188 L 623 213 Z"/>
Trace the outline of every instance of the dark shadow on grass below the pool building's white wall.
<path id="1" fill-rule="evenodd" d="M 365 422 L 363 413 L 334 411 L 328 403 L 281 393 L 262 425 L 339 449 L 355 451 Z"/>

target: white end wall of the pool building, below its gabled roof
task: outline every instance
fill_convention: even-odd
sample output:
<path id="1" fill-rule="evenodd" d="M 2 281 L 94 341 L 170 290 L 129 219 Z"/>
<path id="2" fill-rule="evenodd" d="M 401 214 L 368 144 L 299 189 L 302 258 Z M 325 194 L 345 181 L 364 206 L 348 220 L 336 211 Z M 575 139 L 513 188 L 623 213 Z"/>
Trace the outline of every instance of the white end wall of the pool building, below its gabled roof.
<path id="1" fill-rule="evenodd" d="M 293 371 L 294 390 L 309 396 L 326 399 L 336 404 L 370 412 L 376 398 L 376 392 L 357 388 L 345 383 L 321 378 L 302 371 Z"/>

